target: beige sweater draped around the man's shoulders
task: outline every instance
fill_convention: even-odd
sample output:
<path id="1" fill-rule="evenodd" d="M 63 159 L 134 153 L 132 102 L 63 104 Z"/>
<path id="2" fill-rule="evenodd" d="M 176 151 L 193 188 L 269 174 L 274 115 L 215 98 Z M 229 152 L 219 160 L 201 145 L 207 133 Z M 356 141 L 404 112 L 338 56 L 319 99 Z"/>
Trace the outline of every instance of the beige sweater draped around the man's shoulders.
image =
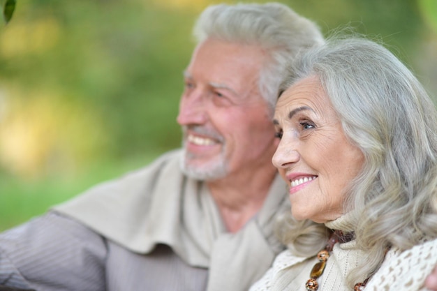
<path id="1" fill-rule="evenodd" d="M 259 213 L 232 234 L 205 183 L 179 170 L 180 156 L 164 154 L 54 209 L 133 253 L 170 246 L 189 266 L 209 270 L 208 291 L 247 290 L 283 250 L 273 224 L 290 209 L 284 182 L 277 175 Z"/>

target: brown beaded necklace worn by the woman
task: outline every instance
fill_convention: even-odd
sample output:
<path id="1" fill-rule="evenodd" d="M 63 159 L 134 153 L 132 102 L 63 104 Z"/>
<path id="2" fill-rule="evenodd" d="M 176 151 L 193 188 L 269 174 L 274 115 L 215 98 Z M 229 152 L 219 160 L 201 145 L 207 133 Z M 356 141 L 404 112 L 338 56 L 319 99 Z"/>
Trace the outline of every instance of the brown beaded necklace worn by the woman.
<path id="1" fill-rule="evenodd" d="M 307 291 L 318 290 L 317 279 L 320 276 L 322 276 L 323 271 L 325 271 L 326 261 L 329 258 L 329 253 L 332 252 L 332 248 L 334 248 L 334 244 L 336 244 L 337 242 L 345 243 L 351 241 L 352 239 L 354 239 L 354 237 L 355 234 L 353 232 L 349 232 L 347 234 L 344 234 L 341 230 L 334 230 L 334 232 L 332 232 L 332 235 L 331 237 L 329 237 L 325 249 L 318 252 L 317 254 L 317 258 L 319 262 L 314 265 L 313 269 L 311 269 L 311 273 L 309 275 L 310 278 L 308 281 L 306 281 L 305 287 Z M 353 287 L 353 290 L 354 291 L 364 290 L 364 287 L 366 286 L 368 280 L 369 278 L 364 280 L 364 282 L 362 283 L 356 283 Z"/>

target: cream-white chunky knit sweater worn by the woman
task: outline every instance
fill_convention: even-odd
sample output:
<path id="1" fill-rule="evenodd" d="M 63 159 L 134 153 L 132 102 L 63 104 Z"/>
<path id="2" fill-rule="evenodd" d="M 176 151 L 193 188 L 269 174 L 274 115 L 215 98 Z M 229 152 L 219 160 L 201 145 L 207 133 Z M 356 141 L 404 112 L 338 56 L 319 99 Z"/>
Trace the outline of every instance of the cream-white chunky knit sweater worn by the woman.
<path id="1" fill-rule="evenodd" d="M 344 217 L 327 225 L 337 230 L 346 230 Z M 346 287 L 346 275 L 358 262 L 366 260 L 366 254 L 355 247 L 355 241 L 336 244 L 325 271 L 317 279 L 319 291 L 352 291 Z M 305 283 L 317 258 L 292 255 L 290 251 L 280 253 L 272 267 L 250 291 L 306 291 Z M 424 280 L 437 265 L 437 239 L 414 246 L 407 251 L 391 249 L 378 272 L 367 283 L 369 291 L 425 291 Z M 365 278 L 362 278 L 364 281 Z M 361 281 L 361 282 L 362 282 Z"/>

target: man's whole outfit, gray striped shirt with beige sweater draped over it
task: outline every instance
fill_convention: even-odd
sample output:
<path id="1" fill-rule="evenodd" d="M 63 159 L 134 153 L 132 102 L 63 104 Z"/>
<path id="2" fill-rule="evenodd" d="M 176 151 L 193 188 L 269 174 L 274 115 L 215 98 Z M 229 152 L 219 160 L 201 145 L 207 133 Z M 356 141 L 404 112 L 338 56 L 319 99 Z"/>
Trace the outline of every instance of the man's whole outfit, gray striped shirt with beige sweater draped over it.
<path id="1" fill-rule="evenodd" d="M 0 284 L 52 290 L 247 290 L 283 250 L 276 177 L 260 212 L 235 234 L 205 184 L 179 171 L 180 151 L 91 188 L 0 234 Z"/>

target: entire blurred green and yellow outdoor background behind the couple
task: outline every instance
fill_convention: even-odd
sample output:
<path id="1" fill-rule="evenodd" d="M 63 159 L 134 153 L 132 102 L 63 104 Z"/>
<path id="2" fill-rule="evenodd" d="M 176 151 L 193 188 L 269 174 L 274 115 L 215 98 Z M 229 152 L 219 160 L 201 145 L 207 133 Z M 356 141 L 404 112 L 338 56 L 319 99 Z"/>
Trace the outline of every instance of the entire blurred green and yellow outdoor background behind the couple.
<path id="1" fill-rule="evenodd" d="M 436 96 L 436 0 L 280 2 L 382 39 Z M 191 27 L 212 3 L 17 0 L 0 24 L 0 230 L 179 147 Z"/>

